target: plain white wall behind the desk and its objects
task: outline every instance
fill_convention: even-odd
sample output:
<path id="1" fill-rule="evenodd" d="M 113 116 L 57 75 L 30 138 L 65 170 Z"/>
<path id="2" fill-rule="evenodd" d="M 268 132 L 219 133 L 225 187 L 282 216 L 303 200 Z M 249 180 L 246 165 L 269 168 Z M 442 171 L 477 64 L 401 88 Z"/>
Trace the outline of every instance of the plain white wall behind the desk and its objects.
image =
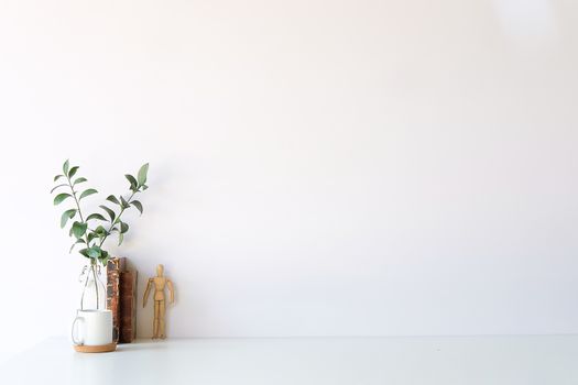
<path id="1" fill-rule="evenodd" d="M 48 195 L 67 157 L 92 205 L 151 163 L 118 253 L 141 289 L 165 264 L 171 336 L 578 332 L 577 16 L 3 0 L 0 349 L 68 332 L 81 258 Z"/>

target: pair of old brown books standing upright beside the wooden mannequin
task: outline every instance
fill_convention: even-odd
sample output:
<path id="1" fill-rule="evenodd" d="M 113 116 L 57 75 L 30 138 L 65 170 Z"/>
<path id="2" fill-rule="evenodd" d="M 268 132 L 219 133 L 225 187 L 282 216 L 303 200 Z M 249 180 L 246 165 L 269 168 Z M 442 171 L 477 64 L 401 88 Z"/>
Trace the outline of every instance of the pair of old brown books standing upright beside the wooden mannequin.
<path id="1" fill-rule="evenodd" d="M 130 343 L 137 338 L 137 275 L 127 270 L 127 258 L 108 261 L 107 309 L 112 311 L 114 342 Z"/>

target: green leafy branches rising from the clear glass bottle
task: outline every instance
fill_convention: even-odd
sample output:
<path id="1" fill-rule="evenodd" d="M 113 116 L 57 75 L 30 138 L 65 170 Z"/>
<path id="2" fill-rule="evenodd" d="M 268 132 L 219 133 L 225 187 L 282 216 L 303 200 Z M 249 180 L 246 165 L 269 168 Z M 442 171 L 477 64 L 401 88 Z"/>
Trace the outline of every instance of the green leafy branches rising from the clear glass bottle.
<path id="1" fill-rule="evenodd" d="M 111 206 L 100 205 L 99 207 L 107 215 L 106 218 L 102 213 L 92 212 L 85 216 L 81 209 L 83 199 L 97 194 L 98 191 L 94 188 L 86 188 L 81 193 L 78 189 L 80 184 L 88 182 L 85 177 L 78 176 L 78 166 L 69 166 L 69 162 L 64 162 L 63 174 L 58 174 L 54 177 L 54 183 L 63 182 L 56 185 L 52 190 L 58 193 L 54 197 L 54 205 L 61 205 L 65 201 L 74 202 L 74 206 L 65 210 L 61 216 L 61 228 L 65 228 L 69 220 L 73 221 L 68 231 L 69 237 L 74 238 L 74 243 L 70 246 L 70 253 L 77 245 L 81 245 L 78 252 L 90 258 L 91 265 L 96 265 L 100 262 L 106 265 L 110 254 L 103 249 L 105 241 L 112 233 L 118 234 L 118 244 L 121 245 L 124 239 L 124 234 L 129 231 L 129 224 L 122 221 L 122 215 L 129 208 L 135 208 L 142 215 L 142 204 L 134 199 L 134 196 L 139 193 L 144 191 L 149 188 L 146 183 L 146 174 L 149 172 L 149 164 L 144 164 L 137 174 L 137 177 L 127 174 L 124 175 L 129 182 L 129 195 L 127 198 L 119 195 L 118 197 L 109 195 L 107 201 L 113 204 Z M 66 193 L 61 193 L 65 190 Z"/>

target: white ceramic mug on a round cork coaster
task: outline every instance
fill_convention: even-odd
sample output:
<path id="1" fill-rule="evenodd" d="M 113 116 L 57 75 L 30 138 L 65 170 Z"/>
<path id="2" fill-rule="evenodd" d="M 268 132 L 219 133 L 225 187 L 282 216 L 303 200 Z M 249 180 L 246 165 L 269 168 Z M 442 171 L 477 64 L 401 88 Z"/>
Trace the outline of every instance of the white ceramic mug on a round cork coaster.
<path id="1" fill-rule="evenodd" d="M 76 345 L 98 346 L 112 343 L 112 312 L 78 310 L 73 322 L 72 336 Z"/>

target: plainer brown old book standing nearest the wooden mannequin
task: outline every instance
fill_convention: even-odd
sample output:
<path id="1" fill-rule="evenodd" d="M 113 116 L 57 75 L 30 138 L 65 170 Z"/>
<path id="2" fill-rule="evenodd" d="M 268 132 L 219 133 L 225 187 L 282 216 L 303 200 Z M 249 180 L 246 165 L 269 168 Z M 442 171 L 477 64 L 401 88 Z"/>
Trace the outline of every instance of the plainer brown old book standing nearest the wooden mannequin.
<path id="1" fill-rule="evenodd" d="M 120 343 L 137 338 L 137 271 L 120 273 Z"/>

